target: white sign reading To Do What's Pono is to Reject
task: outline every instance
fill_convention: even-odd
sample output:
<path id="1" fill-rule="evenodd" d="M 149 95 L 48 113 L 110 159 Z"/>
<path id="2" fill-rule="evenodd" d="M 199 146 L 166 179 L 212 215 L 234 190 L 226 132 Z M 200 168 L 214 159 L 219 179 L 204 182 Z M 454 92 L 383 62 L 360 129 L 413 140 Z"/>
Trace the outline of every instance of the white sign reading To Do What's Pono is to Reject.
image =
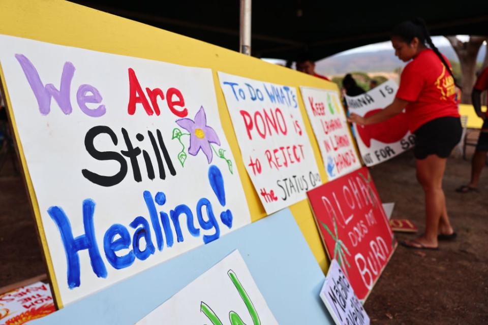
<path id="1" fill-rule="evenodd" d="M 322 184 L 296 88 L 219 72 L 244 165 L 266 213 Z"/>

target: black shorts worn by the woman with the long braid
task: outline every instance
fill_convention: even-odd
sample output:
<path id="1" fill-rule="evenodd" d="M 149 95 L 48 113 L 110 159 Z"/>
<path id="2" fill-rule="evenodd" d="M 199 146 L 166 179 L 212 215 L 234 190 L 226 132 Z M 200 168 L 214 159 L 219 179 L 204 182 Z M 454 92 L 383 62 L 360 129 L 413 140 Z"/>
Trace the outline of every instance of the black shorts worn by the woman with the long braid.
<path id="1" fill-rule="evenodd" d="M 414 132 L 415 149 L 413 154 L 417 159 L 424 159 L 428 155 L 436 154 L 447 158 L 452 149 L 461 141 L 463 127 L 459 117 L 439 117 L 422 124 Z"/>

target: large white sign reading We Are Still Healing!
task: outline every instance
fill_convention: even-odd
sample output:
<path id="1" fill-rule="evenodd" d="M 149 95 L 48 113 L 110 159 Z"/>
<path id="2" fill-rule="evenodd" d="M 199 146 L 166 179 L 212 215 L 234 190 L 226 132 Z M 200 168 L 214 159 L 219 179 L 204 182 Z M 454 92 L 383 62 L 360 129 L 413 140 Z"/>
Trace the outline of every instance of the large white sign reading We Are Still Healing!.
<path id="1" fill-rule="evenodd" d="M 210 70 L 8 36 L 0 62 L 58 303 L 251 222 Z"/>

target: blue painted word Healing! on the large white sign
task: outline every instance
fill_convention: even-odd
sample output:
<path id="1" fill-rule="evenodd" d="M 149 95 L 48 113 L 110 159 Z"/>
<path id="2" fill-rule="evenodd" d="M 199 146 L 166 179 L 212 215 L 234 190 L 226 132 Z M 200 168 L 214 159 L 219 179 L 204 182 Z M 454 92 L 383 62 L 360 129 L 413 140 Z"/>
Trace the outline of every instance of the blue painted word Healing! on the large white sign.
<path id="1" fill-rule="evenodd" d="M 208 181 L 219 203 L 222 207 L 225 207 L 224 180 L 217 166 L 212 165 L 209 167 Z M 119 223 L 111 225 L 103 237 L 105 257 L 114 269 L 119 270 L 130 267 L 134 264 L 136 258 L 139 261 L 144 261 L 156 252 L 153 239 L 151 238 L 151 225 L 152 230 L 156 234 L 156 244 L 159 251 L 164 249 L 164 239 L 166 239 L 166 247 L 170 248 L 173 246 L 174 235 L 178 243 L 184 242 L 184 232 L 180 224 L 180 216 L 182 214 L 186 216 L 186 229 L 194 237 L 200 236 L 200 228 L 204 231 L 214 229 L 214 232 L 210 234 L 203 234 L 202 240 L 205 244 L 220 237 L 220 225 L 215 217 L 214 208 L 207 198 L 201 198 L 196 205 L 196 221 L 198 221 L 198 225 L 200 226 L 198 228 L 195 225 L 194 212 L 192 212 L 189 206 L 185 204 L 177 205 L 174 210 L 170 210 L 169 216 L 168 213 L 160 211 L 160 218 L 158 218 L 156 205 L 160 207 L 164 206 L 166 203 L 166 194 L 157 192 L 153 199 L 153 195 L 149 191 L 144 191 L 142 197 L 147 207 L 150 222 L 142 216 L 134 218 L 129 224 L 132 229 L 135 229 L 132 239 L 128 228 Z M 203 209 L 204 207 L 205 209 Z M 206 218 L 203 216 L 203 210 L 206 212 Z M 58 206 L 53 206 L 48 209 L 49 215 L 57 225 L 65 248 L 68 268 L 68 287 L 70 289 L 80 286 L 80 259 L 78 252 L 84 249 L 88 250 L 94 273 L 98 277 L 107 277 L 107 269 L 100 255 L 95 236 L 95 202 L 91 199 L 84 200 L 82 211 L 85 234 L 74 238 L 70 220 L 63 209 Z M 232 228 L 232 212 L 229 209 L 222 211 L 220 218 L 224 225 L 229 229 Z M 142 243 L 142 239 L 144 243 Z M 142 247 L 144 249 L 141 249 Z M 119 253 L 117 254 L 116 252 Z"/>

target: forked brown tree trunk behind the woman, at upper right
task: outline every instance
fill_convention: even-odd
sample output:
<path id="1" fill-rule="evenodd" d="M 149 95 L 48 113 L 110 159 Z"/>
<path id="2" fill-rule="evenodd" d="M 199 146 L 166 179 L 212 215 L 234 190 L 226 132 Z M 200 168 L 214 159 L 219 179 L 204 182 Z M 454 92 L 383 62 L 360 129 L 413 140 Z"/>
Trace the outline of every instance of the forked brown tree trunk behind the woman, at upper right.
<path id="1" fill-rule="evenodd" d="M 463 42 L 455 36 L 446 36 L 446 38 L 451 43 L 461 64 L 463 76 L 461 102 L 471 104 L 471 91 L 476 81 L 476 57 L 478 56 L 479 48 L 487 38 L 484 36 L 470 36 L 468 42 Z M 486 60 L 487 58 L 485 57 L 485 63 Z"/>

